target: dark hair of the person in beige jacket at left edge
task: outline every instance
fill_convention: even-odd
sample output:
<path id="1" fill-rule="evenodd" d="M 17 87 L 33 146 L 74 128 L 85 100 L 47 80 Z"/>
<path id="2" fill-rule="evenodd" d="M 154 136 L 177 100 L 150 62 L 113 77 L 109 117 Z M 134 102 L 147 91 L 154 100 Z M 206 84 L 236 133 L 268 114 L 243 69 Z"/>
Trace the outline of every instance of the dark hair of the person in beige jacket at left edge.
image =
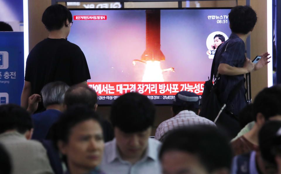
<path id="1" fill-rule="evenodd" d="M 31 128 L 32 119 L 24 108 L 16 104 L 0 105 L 0 134 L 12 129 L 24 134 Z"/>

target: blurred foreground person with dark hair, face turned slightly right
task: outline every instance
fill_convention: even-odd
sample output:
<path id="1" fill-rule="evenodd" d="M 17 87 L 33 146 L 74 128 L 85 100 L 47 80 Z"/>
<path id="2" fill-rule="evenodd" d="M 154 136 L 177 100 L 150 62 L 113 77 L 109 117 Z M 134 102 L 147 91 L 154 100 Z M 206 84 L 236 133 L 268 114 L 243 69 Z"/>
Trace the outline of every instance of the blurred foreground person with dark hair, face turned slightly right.
<path id="1" fill-rule="evenodd" d="M 98 168 L 104 149 L 97 114 L 81 105 L 68 108 L 54 124 L 54 145 L 64 156 L 65 174 L 102 174 Z"/>

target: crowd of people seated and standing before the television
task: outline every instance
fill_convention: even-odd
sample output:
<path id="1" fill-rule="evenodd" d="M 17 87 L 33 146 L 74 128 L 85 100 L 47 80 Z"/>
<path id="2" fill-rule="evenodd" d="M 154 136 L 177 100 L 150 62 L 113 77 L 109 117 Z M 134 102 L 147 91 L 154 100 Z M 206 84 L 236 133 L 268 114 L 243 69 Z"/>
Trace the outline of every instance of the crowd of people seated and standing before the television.
<path id="1" fill-rule="evenodd" d="M 250 6 L 236 6 L 229 13 L 232 35 L 214 47 L 222 57 L 215 62 L 220 100 L 243 74 L 268 63 L 268 53 L 257 64 L 244 55 L 244 39 L 256 20 Z M 241 86 L 226 107 L 244 127 L 235 138 L 199 116 L 200 98 L 188 91 L 176 94 L 172 118 L 154 136 L 155 105 L 145 95 L 119 96 L 109 120 L 97 114 L 97 93 L 86 83 L 85 56 L 66 40 L 70 11 L 52 5 L 42 22 L 49 37 L 28 56 L 21 106 L 0 105 L 1 174 L 281 173 L 280 85 L 264 88 L 250 105 Z M 214 39 L 222 41 L 220 35 Z M 79 71 L 71 70 L 74 65 Z"/>

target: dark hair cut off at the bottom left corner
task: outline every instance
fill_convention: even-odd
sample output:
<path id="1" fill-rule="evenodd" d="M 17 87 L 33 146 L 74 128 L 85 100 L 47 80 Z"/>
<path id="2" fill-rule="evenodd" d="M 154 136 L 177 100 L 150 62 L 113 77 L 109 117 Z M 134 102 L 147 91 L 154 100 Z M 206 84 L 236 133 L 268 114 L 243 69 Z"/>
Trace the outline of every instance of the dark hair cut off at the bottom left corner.
<path id="1" fill-rule="evenodd" d="M 11 159 L 6 149 L 0 144 L 0 173 L 10 174 L 12 170 Z"/>

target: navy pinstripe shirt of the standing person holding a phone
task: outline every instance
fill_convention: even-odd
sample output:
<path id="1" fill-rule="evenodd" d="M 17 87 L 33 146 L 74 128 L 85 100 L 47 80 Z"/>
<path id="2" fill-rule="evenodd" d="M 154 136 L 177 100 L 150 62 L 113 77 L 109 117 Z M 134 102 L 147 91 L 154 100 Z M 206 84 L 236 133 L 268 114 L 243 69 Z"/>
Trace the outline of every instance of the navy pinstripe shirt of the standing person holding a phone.
<path id="1" fill-rule="evenodd" d="M 221 63 L 228 64 L 230 66 L 241 68 L 245 62 L 245 43 L 235 33 L 229 36 L 216 51 L 214 76 L 217 74 L 217 69 Z M 227 101 L 229 93 L 234 87 L 244 79 L 244 74 L 236 76 L 220 75 L 220 80 L 217 83 L 218 97 L 222 103 Z M 238 115 L 242 108 L 246 106 L 246 88 L 241 86 L 238 93 L 235 95 L 232 101 L 227 105 L 227 110 L 234 115 Z"/>

